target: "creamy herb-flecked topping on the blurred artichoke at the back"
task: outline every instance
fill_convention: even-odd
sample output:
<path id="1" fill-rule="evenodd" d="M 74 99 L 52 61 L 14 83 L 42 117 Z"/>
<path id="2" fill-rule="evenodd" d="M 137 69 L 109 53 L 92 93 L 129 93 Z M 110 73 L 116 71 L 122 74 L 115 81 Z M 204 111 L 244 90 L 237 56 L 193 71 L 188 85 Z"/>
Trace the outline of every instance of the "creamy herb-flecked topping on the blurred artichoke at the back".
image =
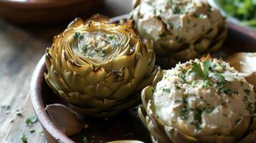
<path id="1" fill-rule="evenodd" d="M 141 0 L 131 16 L 141 27 L 140 33 L 154 41 L 193 42 L 200 36 L 215 36 L 224 25 L 219 11 L 206 0 Z"/>

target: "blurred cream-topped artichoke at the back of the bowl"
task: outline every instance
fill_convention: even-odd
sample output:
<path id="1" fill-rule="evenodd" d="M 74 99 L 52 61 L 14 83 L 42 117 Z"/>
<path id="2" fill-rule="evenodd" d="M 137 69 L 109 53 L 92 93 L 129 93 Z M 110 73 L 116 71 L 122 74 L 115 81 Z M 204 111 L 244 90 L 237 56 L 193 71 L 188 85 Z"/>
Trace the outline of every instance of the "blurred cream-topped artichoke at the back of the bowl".
<path id="1" fill-rule="evenodd" d="M 174 66 L 219 49 L 227 25 L 207 0 L 134 0 L 131 18 L 141 36 L 153 39 L 156 62 Z"/>

